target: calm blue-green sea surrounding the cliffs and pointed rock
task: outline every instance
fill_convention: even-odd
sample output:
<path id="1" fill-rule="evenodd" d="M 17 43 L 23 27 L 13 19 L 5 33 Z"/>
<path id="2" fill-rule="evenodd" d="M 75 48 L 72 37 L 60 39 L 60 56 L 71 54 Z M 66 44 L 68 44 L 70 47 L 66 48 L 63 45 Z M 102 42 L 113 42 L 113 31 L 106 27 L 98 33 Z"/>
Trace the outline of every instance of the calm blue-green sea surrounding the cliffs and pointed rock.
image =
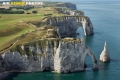
<path id="1" fill-rule="evenodd" d="M 73 2 L 73 1 L 71 1 Z M 99 71 L 92 71 L 92 60 L 86 57 L 88 68 L 84 72 L 57 74 L 53 72 L 13 73 L 4 80 L 119 80 L 120 79 L 120 2 L 79 2 L 77 9 L 89 16 L 95 34 L 86 37 L 88 45 L 95 54 Z M 82 33 L 81 33 L 82 34 Z M 79 37 L 79 36 L 78 36 Z M 101 63 L 99 56 L 107 42 L 111 57 L 110 63 Z"/>

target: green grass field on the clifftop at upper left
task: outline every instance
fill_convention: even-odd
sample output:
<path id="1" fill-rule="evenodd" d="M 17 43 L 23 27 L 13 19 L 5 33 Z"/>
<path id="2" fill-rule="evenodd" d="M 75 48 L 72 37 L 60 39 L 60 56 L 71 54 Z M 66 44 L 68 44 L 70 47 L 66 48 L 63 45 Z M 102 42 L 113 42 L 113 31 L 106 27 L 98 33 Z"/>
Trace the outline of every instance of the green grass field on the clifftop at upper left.
<path id="1" fill-rule="evenodd" d="M 34 10 L 37 11 L 36 14 L 32 13 Z M 58 14 L 51 7 L 34 8 L 25 10 L 25 12 L 31 14 L 0 14 L 0 47 L 26 32 L 35 30 L 36 28 L 26 23 L 28 21 L 42 21 L 46 17 L 44 14 L 52 14 L 51 16 L 65 15 Z"/>

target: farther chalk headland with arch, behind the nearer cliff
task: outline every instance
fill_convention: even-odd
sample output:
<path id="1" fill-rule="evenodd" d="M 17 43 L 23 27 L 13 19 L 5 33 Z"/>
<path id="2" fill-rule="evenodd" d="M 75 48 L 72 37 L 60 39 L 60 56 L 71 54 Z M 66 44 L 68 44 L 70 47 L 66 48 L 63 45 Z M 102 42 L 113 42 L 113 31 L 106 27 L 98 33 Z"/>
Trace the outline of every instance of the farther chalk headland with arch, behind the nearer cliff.
<path id="1" fill-rule="evenodd" d="M 49 17 L 46 21 L 47 25 L 57 26 L 61 37 L 76 34 L 76 30 L 82 26 L 84 35 L 93 35 L 93 25 L 89 17 L 86 16 L 61 16 Z"/>

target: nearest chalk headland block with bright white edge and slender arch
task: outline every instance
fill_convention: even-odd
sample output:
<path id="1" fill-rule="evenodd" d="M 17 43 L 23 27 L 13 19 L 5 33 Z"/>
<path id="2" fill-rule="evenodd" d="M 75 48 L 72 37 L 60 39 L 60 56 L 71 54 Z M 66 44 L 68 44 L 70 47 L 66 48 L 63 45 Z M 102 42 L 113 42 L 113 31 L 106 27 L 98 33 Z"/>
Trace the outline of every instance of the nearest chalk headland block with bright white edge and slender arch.
<path id="1" fill-rule="evenodd" d="M 70 39 L 67 38 L 68 41 Z M 60 73 L 85 70 L 85 57 L 89 55 L 93 61 L 93 70 L 98 70 L 97 60 L 90 48 L 86 47 L 83 40 L 70 42 L 60 41 L 54 57 L 54 70 Z M 64 50 L 64 51 L 63 51 Z"/>

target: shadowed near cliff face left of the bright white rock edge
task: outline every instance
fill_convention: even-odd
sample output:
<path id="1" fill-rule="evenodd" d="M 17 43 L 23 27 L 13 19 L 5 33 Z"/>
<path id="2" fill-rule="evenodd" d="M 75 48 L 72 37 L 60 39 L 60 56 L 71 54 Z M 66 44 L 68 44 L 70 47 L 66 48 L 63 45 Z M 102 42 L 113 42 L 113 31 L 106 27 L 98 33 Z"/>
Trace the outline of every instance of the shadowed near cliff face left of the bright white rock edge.
<path id="1" fill-rule="evenodd" d="M 37 43 L 36 43 L 37 44 Z M 21 55 L 20 52 L 7 51 L 2 55 L 1 63 L 5 71 L 18 70 L 24 72 L 53 70 L 53 53 L 54 48 L 51 42 L 46 42 L 45 47 L 36 46 L 21 46 L 21 49 L 28 48 L 32 55 Z"/>

